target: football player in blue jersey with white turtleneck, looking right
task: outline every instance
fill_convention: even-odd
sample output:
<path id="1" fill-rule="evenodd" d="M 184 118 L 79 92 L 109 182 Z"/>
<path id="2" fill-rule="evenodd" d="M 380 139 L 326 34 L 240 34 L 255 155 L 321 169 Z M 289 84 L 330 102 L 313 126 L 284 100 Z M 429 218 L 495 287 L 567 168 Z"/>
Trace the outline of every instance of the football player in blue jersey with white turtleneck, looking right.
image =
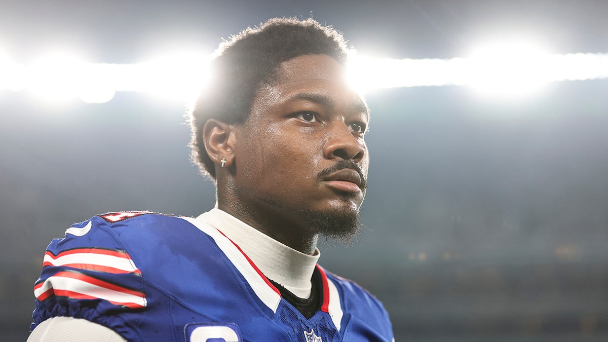
<path id="1" fill-rule="evenodd" d="M 312 19 L 222 44 L 191 120 L 216 208 L 67 229 L 44 257 L 30 340 L 393 340 L 380 302 L 317 265 L 320 234 L 357 233 L 367 187 L 369 114 L 345 46 Z"/>

